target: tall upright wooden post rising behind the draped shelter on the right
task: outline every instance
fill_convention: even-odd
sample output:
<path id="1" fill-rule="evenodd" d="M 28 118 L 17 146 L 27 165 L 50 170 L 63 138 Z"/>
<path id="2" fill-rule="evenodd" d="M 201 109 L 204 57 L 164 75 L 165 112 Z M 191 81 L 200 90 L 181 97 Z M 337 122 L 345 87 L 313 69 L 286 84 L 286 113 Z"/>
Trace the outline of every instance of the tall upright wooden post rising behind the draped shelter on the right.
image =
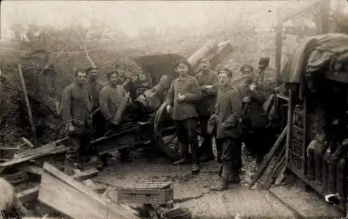
<path id="1" fill-rule="evenodd" d="M 280 12 L 277 10 L 277 26 L 276 26 L 276 86 L 280 86 L 280 69 L 282 60 L 282 35 L 283 26 L 280 23 Z"/>

